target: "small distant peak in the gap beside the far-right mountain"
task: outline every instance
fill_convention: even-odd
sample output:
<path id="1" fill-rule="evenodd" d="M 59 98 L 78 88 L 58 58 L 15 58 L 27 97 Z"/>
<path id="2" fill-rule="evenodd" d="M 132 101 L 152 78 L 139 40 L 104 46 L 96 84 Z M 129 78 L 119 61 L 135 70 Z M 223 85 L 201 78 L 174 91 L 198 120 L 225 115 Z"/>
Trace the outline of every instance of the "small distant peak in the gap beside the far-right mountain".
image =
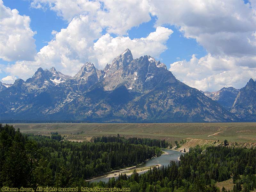
<path id="1" fill-rule="evenodd" d="M 203 93 L 212 100 L 217 101 L 225 109 L 230 110 L 233 106 L 233 103 L 236 99 L 236 95 L 238 94 L 238 92 L 239 89 L 235 89 L 234 87 L 223 87 L 222 89 L 216 92 Z"/>

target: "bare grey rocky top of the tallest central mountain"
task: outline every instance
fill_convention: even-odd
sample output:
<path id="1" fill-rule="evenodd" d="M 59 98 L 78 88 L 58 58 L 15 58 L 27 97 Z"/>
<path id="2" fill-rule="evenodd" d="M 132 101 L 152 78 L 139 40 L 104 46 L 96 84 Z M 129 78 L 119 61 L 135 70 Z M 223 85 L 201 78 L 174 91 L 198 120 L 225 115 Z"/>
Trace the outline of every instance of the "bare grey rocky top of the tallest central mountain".
<path id="1" fill-rule="evenodd" d="M 125 59 L 126 58 L 126 59 Z M 166 66 L 153 57 L 144 55 L 132 59 L 129 49 L 117 56 L 112 64 L 104 68 L 104 89 L 114 90 L 124 85 L 127 89 L 144 92 L 154 88 L 159 83 L 176 82 L 176 78 Z M 114 67 L 113 67 L 114 66 Z"/>

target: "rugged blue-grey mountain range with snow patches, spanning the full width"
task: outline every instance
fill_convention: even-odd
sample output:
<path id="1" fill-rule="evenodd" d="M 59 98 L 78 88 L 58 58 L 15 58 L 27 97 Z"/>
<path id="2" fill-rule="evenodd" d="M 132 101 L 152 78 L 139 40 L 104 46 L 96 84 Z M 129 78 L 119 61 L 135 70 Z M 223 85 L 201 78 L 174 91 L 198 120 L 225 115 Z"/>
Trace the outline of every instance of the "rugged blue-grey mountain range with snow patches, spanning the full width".
<path id="1" fill-rule="evenodd" d="M 103 70 L 87 62 L 73 77 L 38 68 L 26 81 L 0 82 L 1 122 L 255 121 L 256 82 L 202 92 L 160 61 L 126 49 Z"/>

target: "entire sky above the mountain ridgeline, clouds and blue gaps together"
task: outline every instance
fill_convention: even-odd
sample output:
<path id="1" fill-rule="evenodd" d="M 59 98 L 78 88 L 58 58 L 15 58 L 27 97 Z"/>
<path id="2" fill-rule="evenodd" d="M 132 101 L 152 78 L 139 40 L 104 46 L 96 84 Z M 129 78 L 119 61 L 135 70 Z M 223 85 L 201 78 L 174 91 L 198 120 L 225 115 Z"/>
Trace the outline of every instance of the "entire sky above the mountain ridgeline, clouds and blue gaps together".
<path id="1" fill-rule="evenodd" d="M 248 76 L 255 78 L 253 2 L 103 2 L 104 10 L 98 1 L 3 1 L 2 38 L 9 40 L 2 46 L 9 50 L 0 52 L 0 80 L 26 79 L 36 68 L 52 66 L 74 75 L 86 61 L 102 69 L 127 47 L 134 58 L 149 54 L 166 64 L 177 79 L 204 91 L 241 88 Z M 14 24 L 18 30 L 8 26 L 10 15 L 19 18 L 20 23 Z M 19 35 L 17 31 L 25 34 L 25 43 L 10 40 L 10 34 Z M 13 47 L 22 52 L 12 51 Z"/>

